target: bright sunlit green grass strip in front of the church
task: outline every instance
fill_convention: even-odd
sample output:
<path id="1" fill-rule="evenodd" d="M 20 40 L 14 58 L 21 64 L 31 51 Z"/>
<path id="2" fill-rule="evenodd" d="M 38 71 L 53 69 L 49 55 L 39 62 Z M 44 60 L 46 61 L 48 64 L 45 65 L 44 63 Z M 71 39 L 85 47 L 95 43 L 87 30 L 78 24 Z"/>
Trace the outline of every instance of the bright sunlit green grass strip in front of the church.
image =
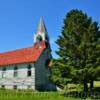
<path id="1" fill-rule="evenodd" d="M 0 90 L 0 100 L 80 100 L 78 98 L 64 97 L 58 92 L 29 92 Z"/>

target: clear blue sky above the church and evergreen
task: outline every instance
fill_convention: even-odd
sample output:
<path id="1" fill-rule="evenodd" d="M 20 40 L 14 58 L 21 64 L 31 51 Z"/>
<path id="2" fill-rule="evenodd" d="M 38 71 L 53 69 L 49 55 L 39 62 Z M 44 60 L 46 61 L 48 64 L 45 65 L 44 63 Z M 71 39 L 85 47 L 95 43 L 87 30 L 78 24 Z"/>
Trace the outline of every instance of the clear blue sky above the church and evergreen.
<path id="1" fill-rule="evenodd" d="M 0 52 L 33 45 L 33 35 L 43 16 L 52 54 L 57 57 L 54 41 L 61 33 L 65 14 L 81 9 L 100 23 L 99 6 L 99 0 L 0 0 Z"/>

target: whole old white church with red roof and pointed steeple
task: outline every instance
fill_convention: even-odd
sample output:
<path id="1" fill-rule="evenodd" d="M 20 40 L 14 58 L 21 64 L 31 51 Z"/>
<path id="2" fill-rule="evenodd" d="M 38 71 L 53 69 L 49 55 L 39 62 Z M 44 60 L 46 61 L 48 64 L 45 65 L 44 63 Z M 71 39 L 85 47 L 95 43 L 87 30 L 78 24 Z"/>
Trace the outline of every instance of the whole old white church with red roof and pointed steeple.
<path id="1" fill-rule="evenodd" d="M 51 48 L 43 18 L 34 34 L 34 45 L 0 53 L 0 88 L 54 89 L 49 80 Z"/>

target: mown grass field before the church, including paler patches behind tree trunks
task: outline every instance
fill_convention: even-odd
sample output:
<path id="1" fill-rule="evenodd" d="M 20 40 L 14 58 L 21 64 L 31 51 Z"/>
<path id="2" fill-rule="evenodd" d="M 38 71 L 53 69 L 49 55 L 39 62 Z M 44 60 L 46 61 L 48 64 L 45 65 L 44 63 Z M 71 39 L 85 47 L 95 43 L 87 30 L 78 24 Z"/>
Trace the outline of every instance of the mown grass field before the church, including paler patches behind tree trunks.
<path id="1" fill-rule="evenodd" d="M 100 88 L 100 82 L 94 82 L 95 88 Z M 66 91 L 62 92 L 38 92 L 31 90 L 4 90 L 0 89 L 0 100 L 97 100 L 87 97 L 82 99 L 80 97 L 71 97 L 64 95 L 64 92 L 81 91 L 81 86 L 69 84 Z M 98 99 L 100 100 L 100 98 Z"/>

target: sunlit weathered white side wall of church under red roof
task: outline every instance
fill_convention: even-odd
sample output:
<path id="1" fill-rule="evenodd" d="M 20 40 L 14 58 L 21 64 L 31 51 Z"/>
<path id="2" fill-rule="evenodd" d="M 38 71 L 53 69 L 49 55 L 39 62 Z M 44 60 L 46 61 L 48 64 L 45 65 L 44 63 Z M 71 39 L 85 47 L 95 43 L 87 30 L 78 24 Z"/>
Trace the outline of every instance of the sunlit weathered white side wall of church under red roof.
<path id="1" fill-rule="evenodd" d="M 35 67 L 34 63 L 30 63 L 32 66 L 32 75 L 31 77 L 27 77 L 27 64 L 17 64 L 17 65 L 9 65 L 9 66 L 0 66 L 0 87 L 2 85 L 5 88 L 12 89 L 14 85 L 17 86 L 18 89 L 27 89 L 31 87 L 35 89 Z M 14 67 L 18 67 L 18 76 L 14 77 Z M 2 68 L 6 67 L 5 77 L 2 78 Z"/>

